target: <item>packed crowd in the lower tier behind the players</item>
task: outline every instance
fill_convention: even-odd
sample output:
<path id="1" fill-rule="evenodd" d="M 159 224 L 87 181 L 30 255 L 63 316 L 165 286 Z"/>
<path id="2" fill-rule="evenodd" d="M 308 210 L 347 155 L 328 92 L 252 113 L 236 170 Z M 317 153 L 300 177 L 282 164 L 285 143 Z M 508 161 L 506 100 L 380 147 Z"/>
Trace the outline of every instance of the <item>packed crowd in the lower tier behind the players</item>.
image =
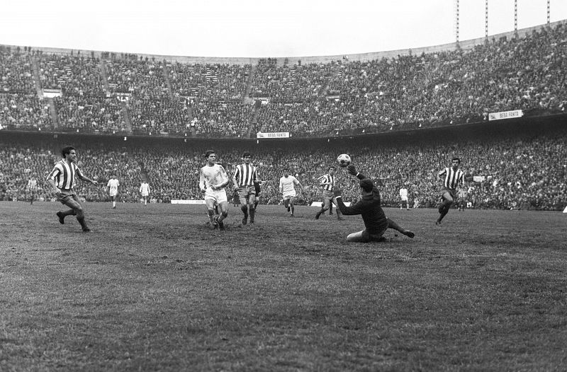
<path id="1" fill-rule="evenodd" d="M 117 148 L 118 147 L 118 148 Z M 23 199 L 30 175 L 43 180 L 60 154 L 54 144 L 3 143 L 0 146 L 0 184 L 4 199 Z M 120 180 L 120 198 L 135 202 L 140 182 L 148 180 L 157 202 L 172 199 L 201 199 L 198 170 L 203 166 L 205 148 L 194 146 L 109 146 L 104 143 L 77 144 L 79 166 L 89 177 L 99 180 L 95 187 L 79 182 L 77 190 L 86 200 L 108 199 L 106 182 L 114 173 Z M 58 149 L 57 149 L 58 151 Z M 241 163 L 242 144 L 223 144 L 216 149 L 218 162 L 230 174 Z M 439 202 L 437 172 L 450 165 L 452 156 L 462 159 L 468 201 L 475 208 L 563 210 L 567 206 L 567 129 L 532 134 L 488 135 L 481 139 L 441 138 L 420 144 L 400 143 L 384 146 L 331 146 L 287 144 L 280 148 L 259 146 L 253 161 L 263 180 L 260 201 L 279 204 L 279 178 L 288 168 L 303 184 L 298 204 L 317 202 L 317 179 L 335 165 L 337 153 L 348 152 L 360 170 L 381 184 L 383 204 L 399 205 L 400 187 L 410 192 L 410 201 L 420 207 Z M 339 169 L 338 185 L 344 198 L 359 197 L 357 180 Z M 40 182 L 40 185 L 42 183 Z M 48 188 L 41 192 L 52 195 Z M 232 186 L 228 188 L 232 195 Z"/>

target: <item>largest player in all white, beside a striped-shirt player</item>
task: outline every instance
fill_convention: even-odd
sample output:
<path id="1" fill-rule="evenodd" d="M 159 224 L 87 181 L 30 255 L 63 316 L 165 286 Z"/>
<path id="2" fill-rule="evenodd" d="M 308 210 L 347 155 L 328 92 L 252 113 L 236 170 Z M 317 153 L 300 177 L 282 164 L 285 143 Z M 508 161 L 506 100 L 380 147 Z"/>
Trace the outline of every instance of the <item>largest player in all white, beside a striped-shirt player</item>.
<path id="1" fill-rule="evenodd" d="M 199 171 L 199 189 L 205 193 L 207 213 L 213 226 L 218 225 L 224 230 L 223 220 L 228 216 L 228 199 L 226 190 L 229 178 L 223 165 L 216 163 L 216 154 L 213 150 L 205 153 L 206 165 Z M 215 216 L 215 204 L 218 204 L 220 216 Z"/>

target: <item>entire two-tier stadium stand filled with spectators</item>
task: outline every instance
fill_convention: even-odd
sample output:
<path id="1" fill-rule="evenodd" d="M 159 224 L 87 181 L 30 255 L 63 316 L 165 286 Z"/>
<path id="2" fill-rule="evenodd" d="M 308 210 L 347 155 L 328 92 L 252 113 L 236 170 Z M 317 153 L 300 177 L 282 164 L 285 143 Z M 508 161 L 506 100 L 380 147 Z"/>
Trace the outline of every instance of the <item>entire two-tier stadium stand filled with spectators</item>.
<path id="1" fill-rule="evenodd" d="M 363 144 L 368 136 L 376 143 L 340 152 L 349 152 L 383 180 L 385 205 L 397 204 L 399 185 L 405 183 L 417 204 L 433 207 L 437 184 L 432 174 L 446 165 L 449 154 L 459 153 L 467 159 L 468 181 L 479 180 L 471 183 L 474 207 L 564 209 L 566 165 L 550 161 L 567 158 L 562 127 L 539 136 L 486 138 L 475 132 L 470 141 L 466 136 L 468 127 L 488 123 L 491 112 L 522 110 L 522 123 L 541 117 L 561 121 L 554 117 L 564 117 L 567 104 L 566 44 L 567 27 L 557 22 L 463 48 L 303 63 L 271 58 L 190 63 L 0 46 L 3 198 L 21 198 L 26 176 L 42 178 L 51 168 L 59 151 L 52 138 L 57 134 L 101 135 L 78 139 L 87 173 L 104 181 L 117 172 L 127 201 L 137 199 L 137 185 L 148 178 L 156 199 L 169 202 L 201 196 L 196 187 L 205 149 L 201 139 L 233 140 L 212 145 L 230 170 L 240 161 L 239 146 L 250 143 L 240 139 L 289 132 L 290 144 L 254 151 L 262 178 L 269 180 L 262 202 L 279 202 L 274 182 L 283 166 L 291 166 L 306 185 L 298 202 L 318 199 L 313 180 L 325 173 L 336 147 L 319 141 L 306 146 L 298 139 L 347 144 L 355 136 Z M 456 132 L 444 133 L 444 141 L 425 141 L 437 128 Z M 35 142 L 6 140 L 12 131 L 47 136 Z M 408 136 L 415 131 L 422 141 L 410 146 Z M 404 139 L 395 149 L 376 145 L 397 132 Z M 182 137 L 189 144 L 175 142 L 167 151 L 152 141 L 113 147 L 112 134 Z M 87 200 L 106 198 L 100 187 L 79 187 Z M 345 193 L 356 198 L 356 185 L 348 185 Z"/>

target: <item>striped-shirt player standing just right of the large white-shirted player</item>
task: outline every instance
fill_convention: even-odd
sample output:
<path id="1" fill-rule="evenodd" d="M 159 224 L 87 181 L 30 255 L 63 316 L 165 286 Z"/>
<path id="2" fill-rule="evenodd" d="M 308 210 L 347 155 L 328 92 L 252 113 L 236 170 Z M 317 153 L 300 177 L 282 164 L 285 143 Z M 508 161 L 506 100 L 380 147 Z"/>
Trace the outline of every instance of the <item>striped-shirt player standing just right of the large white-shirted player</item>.
<path id="1" fill-rule="evenodd" d="M 242 218 L 242 225 L 248 221 L 250 216 L 250 223 L 254 223 L 254 215 L 256 214 L 256 188 L 254 182 L 259 181 L 258 172 L 256 167 L 250 163 L 252 154 L 246 151 L 242 154 L 242 161 L 244 163 L 236 165 L 235 174 L 232 175 L 232 182 L 238 190 L 238 197 L 240 198 L 240 209 L 244 217 Z"/>

